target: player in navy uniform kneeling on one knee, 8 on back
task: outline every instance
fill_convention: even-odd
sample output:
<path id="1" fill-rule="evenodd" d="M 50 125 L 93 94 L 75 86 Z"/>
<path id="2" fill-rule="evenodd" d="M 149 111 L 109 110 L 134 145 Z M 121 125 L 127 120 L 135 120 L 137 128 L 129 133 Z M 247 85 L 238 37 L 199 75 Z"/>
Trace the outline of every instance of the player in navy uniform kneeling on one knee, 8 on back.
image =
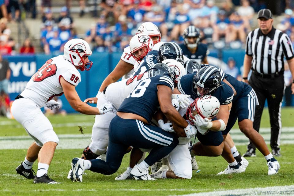
<path id="1" fill-rule="evenodd" d="M 135 179 L 154 180 L 148 173 L 150 165 L 167 156 L 178 145 L 177 135 L 191 138 L 196 133 L 196 128 L 187 123 L 171 104 L 176 79 L 174 71 L 166 64 L 157 63 L 149 70 L 149 76 L 123 101 L 111 121 L 106 162 L 100 159 L 74 158 L 71 163 L 74 181 L 81 181 L 82 174 L 87 169 L 105 175 L 113 174 L 118 170 L 129 146 L 152 149 L 144 161 L 135 165 L 130 174 Z M 183 131 L 176 135 L 150 125 L 158 107 L 172 123 L 183 128 Z"/>

